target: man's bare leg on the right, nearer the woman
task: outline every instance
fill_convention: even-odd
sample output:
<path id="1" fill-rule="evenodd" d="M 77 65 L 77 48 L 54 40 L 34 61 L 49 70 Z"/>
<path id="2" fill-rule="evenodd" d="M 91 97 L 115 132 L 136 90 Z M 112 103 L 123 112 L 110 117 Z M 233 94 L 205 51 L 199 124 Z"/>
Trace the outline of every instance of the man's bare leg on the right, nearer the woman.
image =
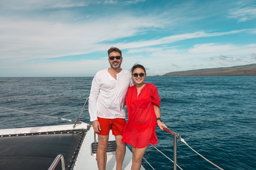
<path id="1" fill-rule="evenodd" d="M 121 141 L 122 136 L 115 136 L 116 138 L 116 170 L 122 170 L 122 165 L 124 162 L 124 155 L 126 151 L 126 143 L 123 144 Z"/>

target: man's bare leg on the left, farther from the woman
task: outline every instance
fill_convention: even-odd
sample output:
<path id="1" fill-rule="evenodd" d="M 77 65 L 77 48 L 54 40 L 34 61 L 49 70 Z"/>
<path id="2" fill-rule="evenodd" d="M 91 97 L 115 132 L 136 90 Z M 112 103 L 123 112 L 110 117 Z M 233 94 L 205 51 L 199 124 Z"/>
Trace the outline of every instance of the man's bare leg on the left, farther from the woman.
<path id="1" fill-rule="evenodd" d="M 96 153 L 96 159 L 99 170 L 106 170 L 107 164 L 107 146 L 108 146 L 108 135 L 102 136 L 98 134 L 98 149 Z"/>

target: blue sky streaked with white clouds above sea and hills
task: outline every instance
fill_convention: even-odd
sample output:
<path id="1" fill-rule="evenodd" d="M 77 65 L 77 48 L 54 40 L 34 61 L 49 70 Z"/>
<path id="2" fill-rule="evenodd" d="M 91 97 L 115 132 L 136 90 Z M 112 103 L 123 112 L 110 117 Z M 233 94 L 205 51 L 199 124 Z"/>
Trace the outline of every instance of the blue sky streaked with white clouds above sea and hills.
<path id="1" fill-rule="evenodd" d="M 0 77 L 147 75 L 256 63 L 255 0 L 0 0 Z"/>

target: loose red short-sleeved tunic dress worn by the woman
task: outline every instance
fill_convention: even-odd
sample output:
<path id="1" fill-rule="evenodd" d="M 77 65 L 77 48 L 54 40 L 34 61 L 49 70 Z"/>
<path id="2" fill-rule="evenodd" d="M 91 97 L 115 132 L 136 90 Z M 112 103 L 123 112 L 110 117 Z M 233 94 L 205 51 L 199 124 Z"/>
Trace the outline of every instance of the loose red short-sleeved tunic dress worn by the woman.
<path id="1" fill-rule="evenodd" d="M 137 88 L 128 89 L 125 103 L 128 109 L 128 121 L 124 126 L 123 143 L 136 148 L 144 148 L 151 143 L 157 144 L 156 115 L 153 105 L 160 108 L 161 99 L 155 85 L 146 83 L 137 97 Z"/>

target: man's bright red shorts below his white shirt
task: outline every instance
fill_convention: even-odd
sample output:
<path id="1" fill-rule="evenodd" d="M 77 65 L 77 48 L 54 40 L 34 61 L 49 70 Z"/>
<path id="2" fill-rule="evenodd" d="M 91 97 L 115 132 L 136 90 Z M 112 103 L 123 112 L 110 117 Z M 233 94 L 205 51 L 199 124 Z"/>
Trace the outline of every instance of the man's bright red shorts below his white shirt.
<path id="1" fill-rule="evenodd" d="M 100 123 L 100 133 L 97 133 L 102 136 L 109 135 L 110 129 L 112 130 L 112 134 L 114 136 L 122 135 L 123 136 L 123 129 L 124 125 L 126 124 L 125 119 L 115 118 L 115 119 L 106 119 L 98 117 L 98 121 Z"/>

